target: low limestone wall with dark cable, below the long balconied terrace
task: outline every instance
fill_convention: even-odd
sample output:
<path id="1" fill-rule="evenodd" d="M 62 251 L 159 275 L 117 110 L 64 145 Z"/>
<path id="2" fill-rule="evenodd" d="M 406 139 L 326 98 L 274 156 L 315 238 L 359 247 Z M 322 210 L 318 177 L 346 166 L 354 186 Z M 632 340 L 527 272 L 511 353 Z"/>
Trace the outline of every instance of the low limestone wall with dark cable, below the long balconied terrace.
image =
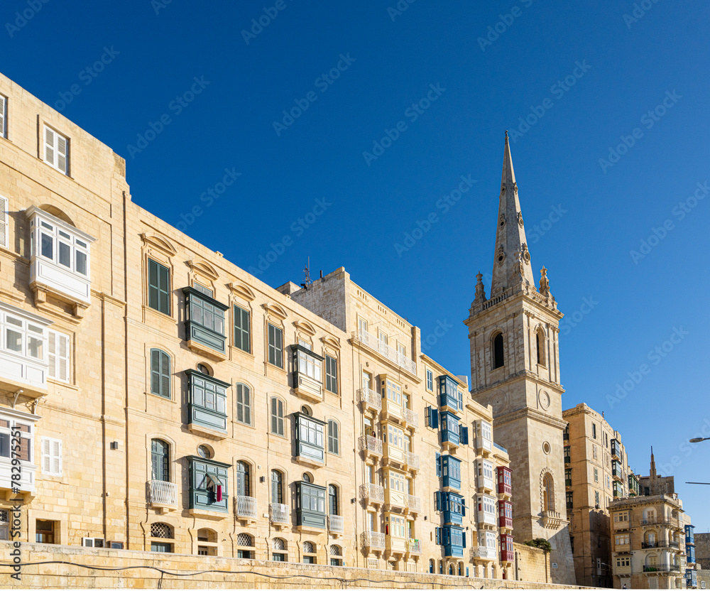
<path id="1" fill-rule="evenodd" d="M 525 572 L 544 570 L 542 551 L 515 545 Z M 485 589 L 520 588 L 515 580 L 451 577 L 391 570 L 326 567 L 301 563 L 272 563 L 216 556 L 163 554 L 130 550 L 107 550 L 75 546 L 23 544 L 23 566 L 18 583 L 9 577 L 0 580 L 0 588 L 146 588 L 146 589 L 244 589 L 343 587 L 346 582 L 357 587 L 405 588 L 417 583 L 427 588 L 476 587 Z M 9 548 L 4 553 L 9 558 Z M 40 564 L 41 563 L 41 564 Z M 94 567 L 94 568 L 87 568 Z M 275 568 L 278 567 L 278 571 Z M 126 570 L 114 570 L 124 568 Z M 107 569 L 107 570 L 101 570 Z M 192 575 L 198 572 L 200 574 Z M 205 572 L 213 571 L 213 572 Z M 218 572 L 214 572 L 218 571 Z M 278 572 L 278 575 L 274 574 Z M 2 573 L 11 573 L 9 563 Z M 524 582 L 525 589 L 574 589 L 544 582 Z"/>

